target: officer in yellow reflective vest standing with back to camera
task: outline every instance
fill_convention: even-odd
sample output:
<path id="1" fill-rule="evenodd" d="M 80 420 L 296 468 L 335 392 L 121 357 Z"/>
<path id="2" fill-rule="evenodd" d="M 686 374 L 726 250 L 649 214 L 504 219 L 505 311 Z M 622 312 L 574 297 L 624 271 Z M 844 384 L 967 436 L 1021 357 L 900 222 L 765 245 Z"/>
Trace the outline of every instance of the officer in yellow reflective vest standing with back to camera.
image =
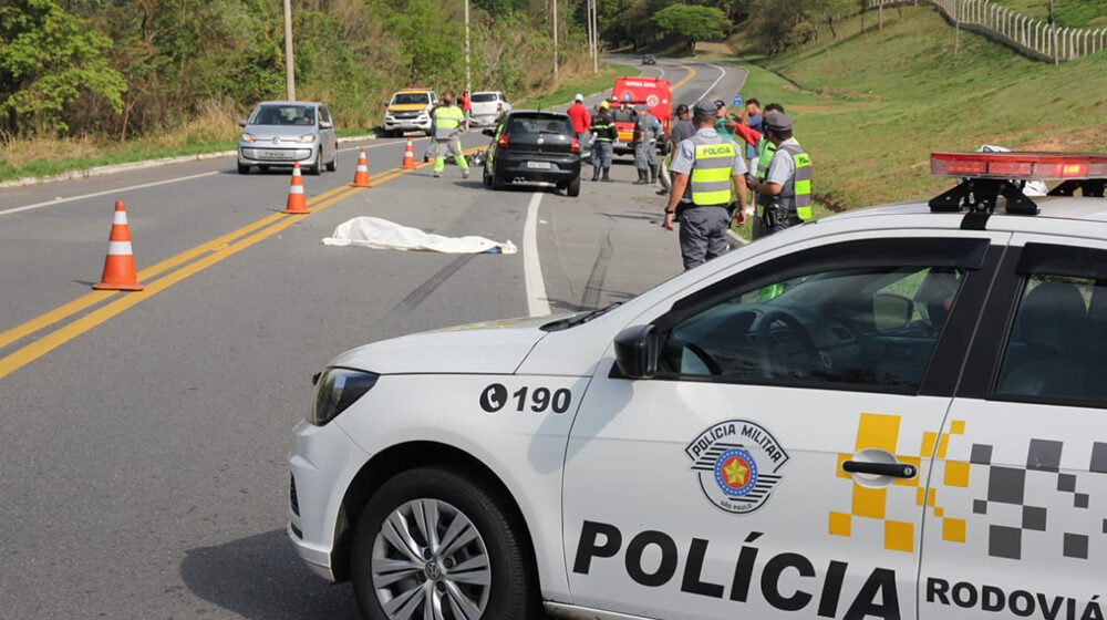
<path id="1" fill-rule="evenodd" d="M 681 256 L 684 269 L 692 269 L 726 252 L 726 230 L 731 226 L 731 190 L 737 194 L 739 208 L 734 221 L 742 226 L 746 213 L 746 163 L 743 151 L 733 141 L 715 132 L 715 104 L 697 102 L 692 108 L 696 133 L 675 145 L 669 172 L 672 192 L 665 206 L 668 230 L 681 224 Z"/>

